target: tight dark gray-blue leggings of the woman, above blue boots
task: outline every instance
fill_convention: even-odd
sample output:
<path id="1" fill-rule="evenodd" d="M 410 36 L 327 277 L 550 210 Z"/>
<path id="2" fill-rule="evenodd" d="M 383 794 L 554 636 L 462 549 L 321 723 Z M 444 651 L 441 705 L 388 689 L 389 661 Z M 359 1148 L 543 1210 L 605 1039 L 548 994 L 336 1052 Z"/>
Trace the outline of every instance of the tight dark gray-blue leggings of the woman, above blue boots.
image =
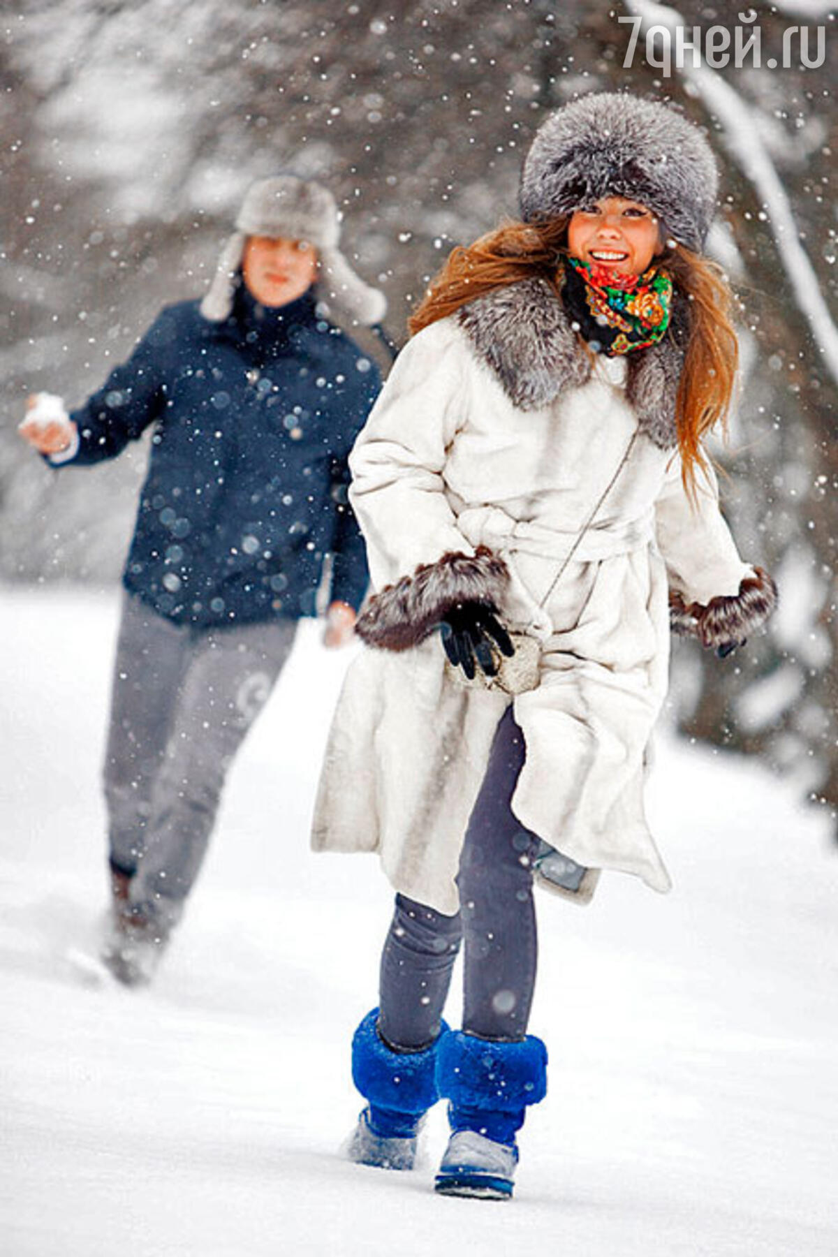
<path id="1" fill-rule="evenodd" d="M 461 941 L 462 1028 L 501 1041 L 526 1033 L 538 957 L 533 859 L 539 838 L 510 807 L 524 755 L 524 737 L 510 706 L 498 725 L 469 820 L 457 915 L 396 896 L 381 958 L 378 1022 L 392 1047 L 417 1050 L 438 1035 Z"/>

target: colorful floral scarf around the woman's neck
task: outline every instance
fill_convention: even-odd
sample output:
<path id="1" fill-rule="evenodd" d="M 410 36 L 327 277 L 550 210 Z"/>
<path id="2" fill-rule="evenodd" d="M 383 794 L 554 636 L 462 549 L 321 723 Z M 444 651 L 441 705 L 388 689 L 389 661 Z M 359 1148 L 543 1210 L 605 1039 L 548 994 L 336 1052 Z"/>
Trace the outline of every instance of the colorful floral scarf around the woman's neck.
<path id="1" fill-rule="evenodd" d="M 559 287 L 570 318 L 592 349 L 609 357 L 657 344 L 670 326 L 672 280 L 650 266 L 642 275 L 621 275 L 578 258 L 559 269 Z"/>

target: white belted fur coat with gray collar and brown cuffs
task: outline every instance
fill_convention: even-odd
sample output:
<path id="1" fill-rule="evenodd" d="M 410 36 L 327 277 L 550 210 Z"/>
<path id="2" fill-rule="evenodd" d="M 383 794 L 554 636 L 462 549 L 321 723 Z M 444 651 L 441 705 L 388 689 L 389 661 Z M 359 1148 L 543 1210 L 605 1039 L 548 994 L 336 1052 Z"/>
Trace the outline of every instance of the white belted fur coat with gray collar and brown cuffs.
<path id="1" fill-rule="evenodd" d="M 643 812 L 667 586 L 678 630 L 706 645 L 745 637 L 775 597 L 739 557 L 715 478 L 695 508 L 683 491 L 680 366 L 676 337 L 636 361 L 592 361 L 540 280 L 402 351 L 351 459 L 376 592 L 334 716 L 317 850 L 378 851 L 402 894 L 457 910 L 460 847 L 509 699 L 454 683 L 432 630 L 481 598 L 543 646 L 536 689 L 514 699 L 526 743 L 515 816 L 577 864 L 668 889 Z"/>

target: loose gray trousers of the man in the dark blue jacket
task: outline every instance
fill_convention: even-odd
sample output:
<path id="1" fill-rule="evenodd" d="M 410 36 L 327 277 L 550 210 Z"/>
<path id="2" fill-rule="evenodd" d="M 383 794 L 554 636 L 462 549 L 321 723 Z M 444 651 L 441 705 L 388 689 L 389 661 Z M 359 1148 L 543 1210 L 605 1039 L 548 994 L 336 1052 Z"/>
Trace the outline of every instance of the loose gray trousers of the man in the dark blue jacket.
<path id="1" fill-rule="evenodd" d="M 175 924 L 200 871 L 226 772 L 266 703 L 295 620 L 175 625 L 124 595 L 104 760 L 111 866 Z"/>

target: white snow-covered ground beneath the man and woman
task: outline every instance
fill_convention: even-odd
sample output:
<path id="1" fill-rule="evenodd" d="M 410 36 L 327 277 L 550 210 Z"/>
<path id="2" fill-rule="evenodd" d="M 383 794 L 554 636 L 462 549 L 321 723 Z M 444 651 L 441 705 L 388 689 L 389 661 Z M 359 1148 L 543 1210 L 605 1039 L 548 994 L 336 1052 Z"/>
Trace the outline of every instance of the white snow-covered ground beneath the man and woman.
<path id="1" fill-rule="evenodd" d="M 438 1199 L 441 1107 L 412 1174 L 338 1151 L 391 901 L 373 859 L 308 851 L 347 656 L 305 626 L 158 980 L 132 992 L 83 964 L 116 593 L 0 601 L 4 1257 L 838 1254 L 838 854 L 793 786 L 661 740 L 675 891 L 540 896 L 550 1089 L 515 1200 Z"/>

